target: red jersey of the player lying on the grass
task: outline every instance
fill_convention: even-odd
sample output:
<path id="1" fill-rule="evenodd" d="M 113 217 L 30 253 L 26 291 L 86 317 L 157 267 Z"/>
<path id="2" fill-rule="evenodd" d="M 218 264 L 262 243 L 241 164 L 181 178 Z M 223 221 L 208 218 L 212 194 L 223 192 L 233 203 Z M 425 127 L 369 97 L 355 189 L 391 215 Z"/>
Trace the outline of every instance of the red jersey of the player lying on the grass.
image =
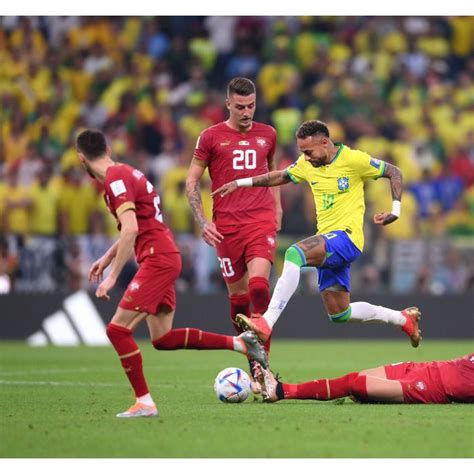
<path id="1" fill-rule="evenodd" d="M 474 403 L 474 353 L 434 364 L 452 402 Z"/>

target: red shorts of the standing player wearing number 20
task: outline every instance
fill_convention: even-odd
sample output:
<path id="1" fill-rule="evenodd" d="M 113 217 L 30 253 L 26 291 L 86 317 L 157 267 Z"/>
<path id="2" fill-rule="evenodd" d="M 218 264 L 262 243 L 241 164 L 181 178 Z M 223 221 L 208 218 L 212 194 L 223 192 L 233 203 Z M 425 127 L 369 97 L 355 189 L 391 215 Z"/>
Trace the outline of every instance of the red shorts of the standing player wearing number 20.
<path id="1" fill-rule="evenodd" d="M 256 257 L 273 263 L 276 251 L 274 222 L 239 224 L 219 228 L 224 240 L 216 245 L 222 276 L 226 283 L 239 281 L 247 271 L 247 263 Z"/>

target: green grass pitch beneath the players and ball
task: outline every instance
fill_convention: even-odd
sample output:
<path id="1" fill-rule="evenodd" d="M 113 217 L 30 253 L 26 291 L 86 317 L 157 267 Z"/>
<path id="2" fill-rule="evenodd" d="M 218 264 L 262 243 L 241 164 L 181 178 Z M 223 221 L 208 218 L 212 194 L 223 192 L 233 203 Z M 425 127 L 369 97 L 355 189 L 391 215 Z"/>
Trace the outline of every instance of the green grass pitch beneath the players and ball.
<path id="1" fill-rule="evenodd" d="M 224 404 L 228 351 L 157 352 L 145 341 L 145 374 L 160 417 L 117 419 L 133 402 L 110 348 L 0 344 L 0 457 L 473 457 L 472 405 L 358 405 L 311 400 Z M 402 360 L 448 359 L 471 341 L 276 340 L 271 363 L 288 382 L 336 377 Z"/>

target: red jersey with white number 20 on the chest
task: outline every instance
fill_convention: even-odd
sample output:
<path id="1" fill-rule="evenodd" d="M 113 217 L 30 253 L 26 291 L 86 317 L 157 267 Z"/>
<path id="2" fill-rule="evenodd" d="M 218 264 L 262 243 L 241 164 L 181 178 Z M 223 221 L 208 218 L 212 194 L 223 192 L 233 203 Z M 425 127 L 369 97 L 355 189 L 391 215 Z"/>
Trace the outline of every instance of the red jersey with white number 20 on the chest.
<path id="1" fill-rule="evenodd" d="M 268 173 L 268 159 L 275 146 L 276 132 L 269 125 L 252 122 L 248 132 L 240 133 L 222 122 L 201 133 L 194 158 L 207 163 L 214 191 L 229 181 Z M 275 199 L 269 188 L 237 189 L 223 198 L 214 196 L 213 202 L 213 220 L 218 227 L 276 222 Z"/>

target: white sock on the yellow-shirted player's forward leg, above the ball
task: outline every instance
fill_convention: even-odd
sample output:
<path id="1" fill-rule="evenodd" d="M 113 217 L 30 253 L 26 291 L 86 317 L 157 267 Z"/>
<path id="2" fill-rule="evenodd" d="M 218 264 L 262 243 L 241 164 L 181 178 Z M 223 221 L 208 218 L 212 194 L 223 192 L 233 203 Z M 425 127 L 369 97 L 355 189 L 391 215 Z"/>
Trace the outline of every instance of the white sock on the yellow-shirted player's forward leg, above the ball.
<path id="1" fill-rule="evenodd" d="M 278 278 L 268 309 L 263 315 L 271 328 L 278 321 L 280 314 L 298 288 L 300 271 L 301 268 L 298 265 L 289 260 L 285 260 L 283 272 L 280 278 Z"/>

